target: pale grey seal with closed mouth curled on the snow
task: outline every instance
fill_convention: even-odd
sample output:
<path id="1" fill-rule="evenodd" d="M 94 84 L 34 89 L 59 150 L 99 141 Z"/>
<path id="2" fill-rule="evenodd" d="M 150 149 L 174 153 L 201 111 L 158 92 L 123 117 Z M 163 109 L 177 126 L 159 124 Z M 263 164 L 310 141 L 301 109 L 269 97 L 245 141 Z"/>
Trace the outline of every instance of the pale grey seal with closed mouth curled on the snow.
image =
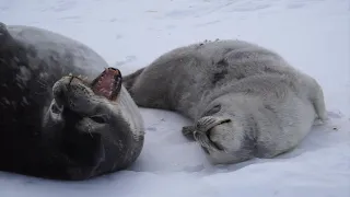
<path id="1" fill-rule="evenodd" d="M 175 48 L 125 77 L 124 84 L 139 106 L 192 119 L 182 131 L 213 164 L 273 158 L 295 148 L 317 119 L 326 119 L 315 79 L 243 40 Z"/>

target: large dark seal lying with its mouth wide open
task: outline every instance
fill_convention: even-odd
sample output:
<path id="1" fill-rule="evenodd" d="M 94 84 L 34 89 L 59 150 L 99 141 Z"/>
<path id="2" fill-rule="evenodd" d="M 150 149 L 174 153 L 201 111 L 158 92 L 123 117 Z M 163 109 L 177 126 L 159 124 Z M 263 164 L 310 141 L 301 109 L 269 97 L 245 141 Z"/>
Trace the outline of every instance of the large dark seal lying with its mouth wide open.
<path id="1" fill-rule="evenodd" d="M 120 71 L 88 46 L 1 23 L 0 170 L 86 179 L 131 165 L 143 120 L 121 83 Z"/>

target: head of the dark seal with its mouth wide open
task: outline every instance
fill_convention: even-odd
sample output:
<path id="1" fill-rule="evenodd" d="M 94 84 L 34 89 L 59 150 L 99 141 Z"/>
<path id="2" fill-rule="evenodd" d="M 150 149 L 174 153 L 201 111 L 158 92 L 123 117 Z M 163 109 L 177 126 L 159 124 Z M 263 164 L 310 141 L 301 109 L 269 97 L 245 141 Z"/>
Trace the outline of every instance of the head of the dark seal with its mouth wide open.
<path id="1" fill-rule="evenodd" d="M 143 121 L 119 70 L 108 68 L 92 82 L 66 76 L 52 92 L 43 141 L 67 155 L 71 179 L 126 169 L 139 157 Z"/>

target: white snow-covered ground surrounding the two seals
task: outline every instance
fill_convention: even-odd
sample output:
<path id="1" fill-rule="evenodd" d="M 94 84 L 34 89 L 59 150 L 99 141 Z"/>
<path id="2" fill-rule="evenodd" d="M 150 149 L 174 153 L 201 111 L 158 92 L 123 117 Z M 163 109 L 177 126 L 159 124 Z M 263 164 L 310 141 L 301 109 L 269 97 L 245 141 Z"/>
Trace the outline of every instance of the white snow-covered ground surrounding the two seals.
<path id="1" fill-rule="evenodd" d="M 350 196 L 348 0 L 0 0 L 0 19 L 78 39 L 122 74 L 195 42 L 254 42 L 318 80 L 330 118 L 292 152 L 212 166 L 182 136 L 188 119 L 140 108 L 145 143 L 129 170 L 77 183 L 1 173 L 1 197 Z"/>

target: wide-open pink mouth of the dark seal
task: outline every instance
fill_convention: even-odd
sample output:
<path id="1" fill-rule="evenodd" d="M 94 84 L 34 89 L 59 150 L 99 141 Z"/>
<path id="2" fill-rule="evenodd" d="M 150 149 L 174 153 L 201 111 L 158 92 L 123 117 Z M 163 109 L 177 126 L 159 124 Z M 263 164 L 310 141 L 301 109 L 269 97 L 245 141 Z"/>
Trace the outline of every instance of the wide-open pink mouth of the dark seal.
<path id="1" fill-rule="evenodd" d="M 115 101 L 121 89 L 121 73 L 118 69 L 107 68 L 91 83 L 95 94 Z"/>

